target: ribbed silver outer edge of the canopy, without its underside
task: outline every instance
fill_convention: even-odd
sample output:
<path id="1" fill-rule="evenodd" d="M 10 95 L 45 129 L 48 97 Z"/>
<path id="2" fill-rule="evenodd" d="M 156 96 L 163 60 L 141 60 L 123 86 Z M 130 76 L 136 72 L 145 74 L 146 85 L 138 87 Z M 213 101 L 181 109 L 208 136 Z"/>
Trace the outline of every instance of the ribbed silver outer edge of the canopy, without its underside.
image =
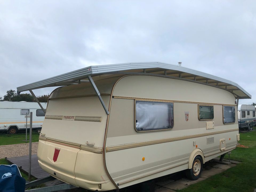
<path id="1" fill-rule="evenodd" d="M 75 71 L 71 71 L 69 73 L 65 73 L 62 75 L 55 76 L 55 77 L 47 78 L 47 79 L 37 81 L 34 83 L 30 83 L 27 85 L 19 86 L 19 87 L 17 87 L 17 93 L 20 93 L 22 91 L 40 89 L 40 88 L 44 88 L 44 87 L 71 85 L 71 84 L 78 82 L 78 80 L 80 80 L 80 79 L 87 78 L 89 75 L 97 76 L 97 75 L 103 75 L 103 74 L 109 74 L 109 73 L 125 74 L 129 70 L 138 70 L 138 69 L 143 70 L 141 73 L 145 74 L 146 70 L 155 69 L 155 68 L 162 69 L 162 70 L 157 70 L 157 71 L 173 70 L 177 73 L 180 72 L 180 73 L 191 74 L 191 77 L 199 76 L 199 77 L 204 77 L 208 80 L 218 81 L 219 83 L 226 83 L 227 86 L 237 87 L 236 91 L 242 91 L 243 94 L 241 94 L 241 95 L 239 95 L 237 93 L 233 93 L 237 98 L 241 98 L 241 99 L 242 98 L 243 99 L 251 98 L 251 95 L 247 91 L 245 91 L 241 86 L 239 86 L 237 83 L 234 83 L 227 79 L 217 77 L 215 75 L 207 74 L 207 73 L 204 73 L 201 71 L 189 69 L 189 68 L 182 67 L 182 66 L 172 65 L 172 64 L 168 64 L 168 63 L 162 63 L 162 62 L 120 63 L 120 64 L 112 64 L 112 65 L 89 66 L 89 67 L 85 67 L 85 68 L 78 69 Z M 125 72 L 122 72 L 122 71 L 125 71 Z M 133 73 L 133 72 L 131 72 L 131 73 Z M 150 73 L 152 74 L 152 72 L 150 72 Z M 209 83 L 211 83 L 211 82 L 209 82 Z"/>

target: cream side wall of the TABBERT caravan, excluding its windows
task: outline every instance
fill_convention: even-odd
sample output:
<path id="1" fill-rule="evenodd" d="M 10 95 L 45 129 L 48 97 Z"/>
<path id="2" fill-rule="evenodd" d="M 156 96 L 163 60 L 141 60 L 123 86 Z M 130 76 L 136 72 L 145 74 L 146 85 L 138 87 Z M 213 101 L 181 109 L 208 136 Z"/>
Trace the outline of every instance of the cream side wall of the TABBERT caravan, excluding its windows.
<path id="1" fill-rule="evenodd" d="M 173 103 L 173 128 L 136 130 L 136 101 Z M 199 121 L 198 105 L 213 106 L 214 118 Z M 223 106 L 234 107 L 234 123 L 223 123 Z M 206 124 L 213 122 L 214 128 L 207 129 Z M 226 153 L 236 147 L 237 134 L 237 110 L 234 95 L 230 92 L 170 78 L 123 77 L 115 85 L 112 95 L 106 167 L 118 187 L 126 187 L 188 169 L 193 161 L 193 151 L 200 151 L 205 161 Z M 220 140 L 225 142 L 224 147 Z"/>

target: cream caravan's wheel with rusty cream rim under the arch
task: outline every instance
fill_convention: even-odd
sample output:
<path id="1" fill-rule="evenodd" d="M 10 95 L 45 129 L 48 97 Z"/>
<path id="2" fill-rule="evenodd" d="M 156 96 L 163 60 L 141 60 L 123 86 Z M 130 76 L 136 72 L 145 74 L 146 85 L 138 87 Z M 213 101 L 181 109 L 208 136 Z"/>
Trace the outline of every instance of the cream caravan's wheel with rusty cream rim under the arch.
<path id="1" fill-rule="evenodd" d="M 187 178 L 191 180 L 197 180 L 201 173 L 203 168 L 203 161 L 200 155 L 197 155 L 193 161 L 192 169 L 187 169 L 186 176 Z"/>

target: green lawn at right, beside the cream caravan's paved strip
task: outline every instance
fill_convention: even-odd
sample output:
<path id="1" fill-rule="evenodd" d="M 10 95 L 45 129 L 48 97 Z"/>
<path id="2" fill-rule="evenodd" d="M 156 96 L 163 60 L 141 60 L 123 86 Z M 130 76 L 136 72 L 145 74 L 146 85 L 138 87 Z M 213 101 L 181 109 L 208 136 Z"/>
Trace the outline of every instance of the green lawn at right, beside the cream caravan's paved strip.
<path id="1" fill-rule="evenodd" d="M 248 133 L 240 133 L 242 145 L 249 148 L 237 147 L 230 154 L 230 159 L 242 161 L 235 167 L 198 182 L 179 192 L 253 192 L 256 188 L 256 129 Z M 228 155 L 225 157 L 228 158 Z"/>

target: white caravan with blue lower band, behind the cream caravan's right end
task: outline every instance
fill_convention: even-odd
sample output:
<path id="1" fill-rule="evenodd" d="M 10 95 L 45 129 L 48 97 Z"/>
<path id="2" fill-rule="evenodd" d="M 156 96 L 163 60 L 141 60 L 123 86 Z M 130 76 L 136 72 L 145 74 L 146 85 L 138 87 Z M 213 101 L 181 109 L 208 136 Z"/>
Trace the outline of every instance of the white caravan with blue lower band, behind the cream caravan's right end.
<path id="1" fill-rule="evenodd" d="M 256 124 L 255 106 L 254 105 L 238 105 L 238 126 L 239 129 L 250 130 Z"/>

